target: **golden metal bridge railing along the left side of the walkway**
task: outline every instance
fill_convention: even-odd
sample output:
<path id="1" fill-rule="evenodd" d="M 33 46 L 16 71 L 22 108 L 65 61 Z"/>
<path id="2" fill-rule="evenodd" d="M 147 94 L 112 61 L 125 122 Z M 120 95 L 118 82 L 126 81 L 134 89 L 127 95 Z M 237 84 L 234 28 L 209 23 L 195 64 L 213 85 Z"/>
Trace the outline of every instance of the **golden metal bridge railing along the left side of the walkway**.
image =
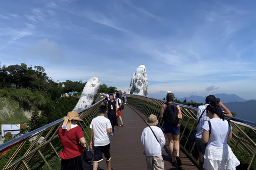
<path id="1" fill-rule="evenodd" d="M 99 105 L 102 101 L 103 99 L 78 113 L 79 118 L 84 120 L 84 122 L 79 122 L 79 125 L 83 129 L 86 141 L 90 141 L 89 126 L 91 120 L 99 115 Z M 55 156 L 59 157 L 59 153 L 55 148 L 61 145 L 58 138 L 58 130 L 62 122 L 63 118 L 0 145 L 0 155 L 3 154 L 3 152 L 15 150 L 2 169 L 30 169 L 33 168 L 31 166 L 37 162 L 38 159 L 43 160 L 48 169 L 54 169 L 46 160 L 45 154 L 49 151 L 53 151 Z M 32 138 L 34 138 L 34 141 L 30 142 Z M 40 143 L 38 144 L 39 141 Z M 24 154 L 18 157 L 21 151 Z M 3 157 L 0 157 L 0 159 L 1 158 Z"/>

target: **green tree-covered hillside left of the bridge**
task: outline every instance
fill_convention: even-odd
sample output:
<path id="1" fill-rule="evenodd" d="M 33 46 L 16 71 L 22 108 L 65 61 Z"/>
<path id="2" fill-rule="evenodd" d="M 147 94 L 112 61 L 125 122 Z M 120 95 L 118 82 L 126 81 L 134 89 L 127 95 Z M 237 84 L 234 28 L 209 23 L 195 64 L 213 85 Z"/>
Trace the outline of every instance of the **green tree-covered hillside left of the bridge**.
<path id="1" fill-rule="evenodd" d="M 58 120 L 73 110 L 85 84 L 82 80 L 56 83 L 42 66 L 0 65 L 0 124 L 27 123 L 31 131 Z M 116 87 L 106 84 L 99 89 L 99 92 L 114 91 Z M 78 93 L 74 97 L 61 97 L 68 92 Z M 25 112 L 32 113 L 30 120 Z"/>

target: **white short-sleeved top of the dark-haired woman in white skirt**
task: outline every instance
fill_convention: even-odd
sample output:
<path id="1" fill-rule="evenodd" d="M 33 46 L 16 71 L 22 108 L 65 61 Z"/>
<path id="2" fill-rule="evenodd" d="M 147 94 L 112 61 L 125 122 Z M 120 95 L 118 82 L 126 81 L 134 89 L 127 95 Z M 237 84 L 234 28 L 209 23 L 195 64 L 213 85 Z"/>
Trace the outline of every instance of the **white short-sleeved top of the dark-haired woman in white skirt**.
<path id="1" fill-rule="evenodd" d="M 230 132 L 228 121 L 223 121 L 221 118 L 212 118 L 210 120 L 212 125 L 212 132 L 209 137 L 207 146 L 213 148 L 225 148 L 228 146 L 227 139 L 228 133 Z M 203 129 L 209 131 L 209 123 L 206 121 L 204 123 Z"/>

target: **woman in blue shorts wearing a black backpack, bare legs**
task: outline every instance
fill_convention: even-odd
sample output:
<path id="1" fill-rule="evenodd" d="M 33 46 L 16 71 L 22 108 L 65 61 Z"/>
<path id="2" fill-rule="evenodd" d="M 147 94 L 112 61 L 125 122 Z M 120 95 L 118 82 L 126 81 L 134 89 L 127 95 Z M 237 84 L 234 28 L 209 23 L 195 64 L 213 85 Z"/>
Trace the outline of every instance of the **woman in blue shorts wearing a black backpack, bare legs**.
<path id="1" fill-rule="evenodd" d="M 167 138 L 169 140 L 169 151 L 172 157 L 172 165 L 175 165 L 175 159 L 174 159 L 174 148 L 176 151 L 176 160 L 177 160 L 177 165 L 181 166 L 181 160 L 180 160 L 180 124 L 179 124 L 179 119 L 182 119 L 182 114 L 180 111 L 180 106 L 174 105 L 174 94 L 171 92 L 166 95 L 166 103 L 162 106 L 161 108 L 161 113 L 160 113 L 160 118 L 164 118 L 164 133 L 167 135 Z M 173 109 L 175 109 L 175 114 L 177 114 L 176 117 L 176 122 L 175 124 L 170 124 L 167 123 L 166 121 L 166 116 L 167 114 L 167 107 L 173 106 Z"/>

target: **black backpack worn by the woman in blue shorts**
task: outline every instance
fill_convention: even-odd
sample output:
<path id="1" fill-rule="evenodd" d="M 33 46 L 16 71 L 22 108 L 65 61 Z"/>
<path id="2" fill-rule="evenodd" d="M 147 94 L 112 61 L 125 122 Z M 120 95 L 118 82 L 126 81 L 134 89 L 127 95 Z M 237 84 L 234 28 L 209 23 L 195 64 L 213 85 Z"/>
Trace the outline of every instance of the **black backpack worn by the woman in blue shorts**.
<path id="1" fill-rule="evenodd" d="M 178 107 L 173 103 L 166 103 L 165 105 L 167 106 L 164 111 L 164 122 L 172 126 L 177 126 L 179 124 Z"/>

